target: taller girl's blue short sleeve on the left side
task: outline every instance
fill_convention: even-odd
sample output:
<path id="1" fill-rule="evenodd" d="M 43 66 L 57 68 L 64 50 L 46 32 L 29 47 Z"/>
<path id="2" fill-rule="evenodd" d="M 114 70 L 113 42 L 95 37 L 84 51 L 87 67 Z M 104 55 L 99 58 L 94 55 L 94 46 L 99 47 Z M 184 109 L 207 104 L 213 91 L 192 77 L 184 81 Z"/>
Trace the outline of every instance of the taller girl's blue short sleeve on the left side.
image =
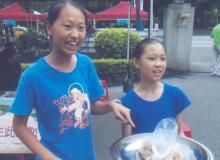
<path id="1" fill-rule="evenodd" d="M 34 89 L 29 75 L 23 73 L 16 91 L 15 100 L 10 112 L 15 115 L 27 116 L 34 106 Z"/>

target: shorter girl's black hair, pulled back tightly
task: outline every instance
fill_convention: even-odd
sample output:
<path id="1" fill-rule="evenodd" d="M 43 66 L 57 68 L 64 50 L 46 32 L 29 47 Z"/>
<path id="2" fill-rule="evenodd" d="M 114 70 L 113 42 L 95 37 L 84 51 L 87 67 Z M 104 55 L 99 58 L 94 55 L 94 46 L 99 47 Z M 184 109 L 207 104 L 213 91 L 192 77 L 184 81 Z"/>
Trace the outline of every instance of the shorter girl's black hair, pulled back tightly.
<path id="1" fill-rule="evenodd" d="M 134 50 L 134 57 L 140 59 L 141 55 L 144 53 L 144 49 L 151 44 L 161 44 L 163 46 L 163 44 L 157 39 L 145 38 L 136 45 Z"/>

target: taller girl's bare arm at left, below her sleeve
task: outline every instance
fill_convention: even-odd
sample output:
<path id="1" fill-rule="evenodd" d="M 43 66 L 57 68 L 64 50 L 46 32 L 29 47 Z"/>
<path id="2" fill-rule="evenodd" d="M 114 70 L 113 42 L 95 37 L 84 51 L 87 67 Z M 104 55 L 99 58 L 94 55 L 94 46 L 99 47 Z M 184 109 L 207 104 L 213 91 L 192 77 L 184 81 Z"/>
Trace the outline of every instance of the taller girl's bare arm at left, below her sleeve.
<path id="1" fill-rule="evenodd" d="M 38 139 L 27 128 L 28 117 L 16 116 L 13 118 L 13 129 L 17 137 L 25 144 L 31 151 L 39 155 L 43 160 L 60 160 L 49 150 L 47 150 Z"/>

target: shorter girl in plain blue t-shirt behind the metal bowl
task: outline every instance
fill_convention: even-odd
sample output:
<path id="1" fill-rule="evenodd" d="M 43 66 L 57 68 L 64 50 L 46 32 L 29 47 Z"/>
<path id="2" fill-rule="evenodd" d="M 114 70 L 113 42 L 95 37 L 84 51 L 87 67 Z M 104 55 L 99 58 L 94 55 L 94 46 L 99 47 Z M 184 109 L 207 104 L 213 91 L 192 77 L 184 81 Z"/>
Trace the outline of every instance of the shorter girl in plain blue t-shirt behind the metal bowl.
<path id="1" fill-rule="evenodd" d="M 156 39 L 143 39 L 137 44 L 134 56 L 140 81 L 121 102 L 130 109 L 135 128 L 122 124 L 123 136 L 153 132 L 157 123 L 168 117 L 177 120 L 181 133 L 181 112 L 190 101 L 180 88 L 161 82 L 167 65 L 163 45 Z"/>

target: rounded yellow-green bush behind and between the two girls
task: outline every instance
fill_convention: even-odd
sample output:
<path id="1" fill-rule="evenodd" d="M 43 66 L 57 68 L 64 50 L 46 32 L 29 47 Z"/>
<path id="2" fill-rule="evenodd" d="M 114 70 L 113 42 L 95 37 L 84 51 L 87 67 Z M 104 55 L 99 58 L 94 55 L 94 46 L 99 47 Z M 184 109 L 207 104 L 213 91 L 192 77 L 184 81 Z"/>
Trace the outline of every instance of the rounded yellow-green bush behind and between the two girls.
<path id="1" fill-rule="evenodd" d="M 126 58 L 128 30 L 108 28 L 99 31 L 94 37 L 94 46 L 99 58 Z M 138 33 L 130 31 L 130 54 L 133 55 L 136 44 L 141 40 Z"/>

